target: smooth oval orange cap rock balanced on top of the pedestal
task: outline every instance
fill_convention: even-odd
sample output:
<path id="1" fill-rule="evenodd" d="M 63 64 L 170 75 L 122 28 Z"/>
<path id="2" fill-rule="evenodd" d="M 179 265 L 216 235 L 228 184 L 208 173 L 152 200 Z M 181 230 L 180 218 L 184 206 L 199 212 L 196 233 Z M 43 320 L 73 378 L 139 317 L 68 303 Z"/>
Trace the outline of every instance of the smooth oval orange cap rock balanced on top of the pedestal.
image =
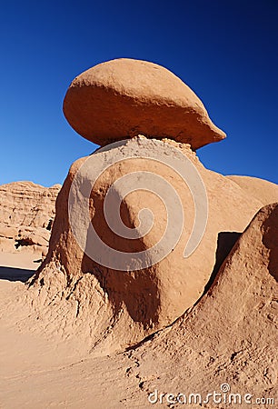
<path id="1" fill-rule="evenodd" d="M 64 114 L 78 134 L 101 146 L 141 134 L 197 149 L 225 137 L 180 78 L 161 65 L 128 58 L 74 78 Z"/>

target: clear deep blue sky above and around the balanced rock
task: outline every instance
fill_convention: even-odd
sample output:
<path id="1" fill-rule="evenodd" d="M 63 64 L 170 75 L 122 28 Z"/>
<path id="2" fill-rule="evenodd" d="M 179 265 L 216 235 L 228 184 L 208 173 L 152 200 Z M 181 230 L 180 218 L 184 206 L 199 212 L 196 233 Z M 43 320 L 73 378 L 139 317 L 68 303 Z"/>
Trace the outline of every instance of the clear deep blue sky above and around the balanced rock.
<path id="1" fill-rule="evenodd" d="M 164 65 L 227 139 L 198 155 L 223 175 L 278 183 L 278 1 L 1 2 L 0 184 L 63 183 L 95 145 L 67 125 L 74 76 L 105 60 Z"/>

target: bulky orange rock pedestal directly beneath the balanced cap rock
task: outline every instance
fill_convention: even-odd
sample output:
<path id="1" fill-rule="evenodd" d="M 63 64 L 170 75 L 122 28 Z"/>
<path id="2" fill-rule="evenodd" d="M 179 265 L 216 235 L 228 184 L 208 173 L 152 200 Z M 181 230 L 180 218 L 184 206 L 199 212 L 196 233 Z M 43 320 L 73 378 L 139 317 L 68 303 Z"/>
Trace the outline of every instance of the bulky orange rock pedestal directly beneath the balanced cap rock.
<path id="1" fill-rule="evenodd" d="M 142 139 L 138 138 L 139 152 L 140 141 Z M 131 171 L 144 169 L 163 176 L 179 193 L 186 214 L 180 242 L 163 261 L 142 271 L 119 272 L 96 264 L 75 241 L 68 223 L 68 195 L 74 175 L 86 158 L 72 165 L 58 195 L 49 253 L 30 284 L 30 294 L 38 302 L 37 314 L 41 320 L 52 322 L 54 328 L 59 323 L 65 334 L 73 333 L 74 326 L 74 334 L 78 336 L 80 344 L 84 340 L 96 354 L 110 354 L 113 350 L 139 342 L 144 336 L 172 324 L 192 307 L 203 294 L 211 274 L 217 272 L 229 254 L 238 235 L 263 206 L 260 198 L 248 195 L 231 179 L 205 169 L 189 145 L 167 142 L 182 149 L 184 155 L 194 162 L 204 180 L 209 200 L 204 238 L 187 259 L 183 254 L 194 220 L 193 199 L 180 177 L 169 171 L 167 166 L 155 164 L 152 168 L 150 161 L 142 159 L 138 159 L 138 163 L 125 161 L 106 171 L 92 190 L 90 213 L 94 227 L 105 242 L 122 251 L 128 248 L 139 251 L 156 243 L 164 231 L 164 209 L 149 193 L 138 191 L 127 196 L 123 209 L 127 225 L 136 224 L 136 214 L 144 206 L 154 211 L 158 223 L 151 234 L 134 240 L 133 244 L 129 239 L 114 238 L 104 223 L 102 210 L 105 193 L 114 180 Z M 165 155 L 168 155 L 169 145 L 166 141 L 148 141 L 148 149 L 155 151 L 158 144 L 164 145 Z M 131 154 L 129 145 L 127 142 L 121 147 L 95 153 L 95 160 L 97 155 L 104 155 L 104 159 L 109 161 L 114 157 L 115 150 L 121 150 L 124 160 Z M 85 185 L 87 176 L 79 177 Z M 78 195 L 75 200 L 78 200 Z M 216 251 L 217 246 L 219 251 Z M 49 300 L 53 301 L 49 304 Z"/>

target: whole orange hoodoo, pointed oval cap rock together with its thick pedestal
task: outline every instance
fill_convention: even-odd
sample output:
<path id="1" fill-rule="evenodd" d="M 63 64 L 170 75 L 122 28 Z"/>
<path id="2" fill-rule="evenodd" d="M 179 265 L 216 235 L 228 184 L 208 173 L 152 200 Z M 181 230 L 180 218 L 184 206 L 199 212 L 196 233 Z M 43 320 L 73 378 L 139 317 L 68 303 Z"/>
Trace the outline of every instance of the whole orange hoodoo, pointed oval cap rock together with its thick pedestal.
<path id="1" fill-rule="evenodd" d="M 49 252 L 30 282 L 30 292 L 41 294 L 44 303 L 49 304 L 50 298 L 55 300 L 49 306 L 51 319 L 63 328 L 74 325 L 74 331 L 91 351 L 107 354 L 142 341 L 191 308 L 213 280 L 238 235 L 253 215 L 269 203 L 270 196 L 262 199 L 263 189 L 259 186 L 251 194 L 242 188 L 242 180 L 233 181 L 233 177 L 204 168 L 193 149 L 222 139 L 223 132 L 212 124 L 193 91 L 163 67 L 129 59 L 96 65 L 74 79 L 65 95 L 64 112 L 77 132 L 100 145 L 123 141 L 96 151 L 85 171 L 82 168 L 86 157 L 72 165 L 57 198 Z M 139 132 L 145 135 L 136 136 Z M 208 201 L 204 237 L 194 253 L 185 258 L 184 248 L 194 228 L 194 204 L 201 193 L 193 197 L 186 176 L 184 180 L 176 169 L 166 165 L 166 158 L 176 155 L 171 146 L 183 153 L 181 162 L 189 160 L 194 165 Z M 163 149 L 160 161 L 146 158 L 155 156 L 159 149 Z M 115 161 L 117 157 L 121 160 Z M 95 169 L 101 163 L 109 166 L 92 184 Z M 162 203 L 161 197 L 155 196 L 155 184 L 150 192 L 146 173 L 130 194 L 119 190 L 117 182 L 136 172 L 155 175 L 156 187 L 159 180 L 172 185 L 186 220 L 178 243 L 161 260 L 139 269 L 130 267 L 129 262 L 124 268 L 117 268 L 108 263 L 108 253 L 94 258 L 86 249 L 100 252 L 100 239 L 121 254 L 147 252 L 164 236 L 169 221 L 167 201 Z M 270 185 L 265 183 L 264 190 Z M 111 223 L 116 218 L 116 198 L 120 198 L 124 231 L 134 230 L 137 238 L 131 240 L 129 235 L 117 234 L 108 223 L 104 208 L 111 190 Z M 278 200 L 278 191 L 273 189 L 271 197 Z M 70 201 L 75 204 L 74 214 L 69 214 Z M 78 207 L 84 202 L 88 206 L 85 212 L 81 205 Z M 154 224 L 142 236 L 138 217 L 143 208 L 153 212 Z M 92 238 L 89 233 L 86 214 L 97 237 Z M 83 245 L 74 229 L 84 235 Z M 152 258 L 144 255 L 144 261 L 148 257 Z"/>

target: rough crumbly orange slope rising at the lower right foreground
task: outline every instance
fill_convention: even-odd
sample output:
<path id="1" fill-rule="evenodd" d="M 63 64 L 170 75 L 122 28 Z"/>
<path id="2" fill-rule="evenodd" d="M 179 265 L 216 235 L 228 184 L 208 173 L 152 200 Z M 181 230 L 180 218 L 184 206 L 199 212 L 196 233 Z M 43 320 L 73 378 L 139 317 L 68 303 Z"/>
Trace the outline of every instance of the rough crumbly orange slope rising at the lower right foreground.
<path id="1" fill-rule="evenodd" d="M 154 392 L 188 395 L 221 392 L 264 398 L 277 404 L 278 374 L 278 204 L 267 205 L 233 246 L 208 293 L 169 329 L 130 353 L 129 370 L 138 379 L 130 407 Z M 120 365 L 119 365 L 120 366 Z M 132 380 L 130 380 L 132 383 Z M 97 386 L 96 386 L 97 387 Z M 141 389 L 141 390 L 140 390 Z M 102 391 L 100 391 L 100 394 Z M 123 394 L 124 395 L 124 394 Z M 227 394 L 229 396 L 229 392 Z M 273 404 L 265 404 L 273 398 Z M 228 408 L 222 402 L 190 407 Z M 264 404 L 263 404 L 264 402 Z M 164 397 L 166 407 L 166 400 Z M 248 408 L 251 404 L 242 401 Z M 177 405 L 176 407 L 179 407 Z"/>

